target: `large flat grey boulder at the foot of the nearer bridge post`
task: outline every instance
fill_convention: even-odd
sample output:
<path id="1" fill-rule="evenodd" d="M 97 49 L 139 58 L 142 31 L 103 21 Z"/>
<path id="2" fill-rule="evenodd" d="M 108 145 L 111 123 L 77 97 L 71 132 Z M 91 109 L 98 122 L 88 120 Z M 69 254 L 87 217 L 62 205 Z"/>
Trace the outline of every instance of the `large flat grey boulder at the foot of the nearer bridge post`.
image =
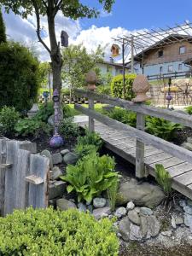
<path id="1" fill-rule="evenodd" d="M 154 208 L 160 204 L 165 195 L 160 187 L 150 183 L 137 183 L 131 179 L 121 183 L 117 193 L 117 206 L 133 201 L 136 206 Z"/>

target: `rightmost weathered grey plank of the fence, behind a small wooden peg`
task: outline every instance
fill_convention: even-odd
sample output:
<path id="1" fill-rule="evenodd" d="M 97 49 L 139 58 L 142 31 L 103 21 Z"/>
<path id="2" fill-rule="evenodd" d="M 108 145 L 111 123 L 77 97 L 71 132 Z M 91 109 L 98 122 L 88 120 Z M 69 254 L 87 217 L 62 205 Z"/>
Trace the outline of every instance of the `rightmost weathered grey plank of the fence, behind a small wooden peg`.
<path id="1" fill-rule="evenodd" d="M 29 173 L 41 177 L 44 183 L 39 185 L 29 183 L 28 205 L 34 208 L 45 208 L 48 206 L 49 159 L 41 155 L 31 154 Z"/>

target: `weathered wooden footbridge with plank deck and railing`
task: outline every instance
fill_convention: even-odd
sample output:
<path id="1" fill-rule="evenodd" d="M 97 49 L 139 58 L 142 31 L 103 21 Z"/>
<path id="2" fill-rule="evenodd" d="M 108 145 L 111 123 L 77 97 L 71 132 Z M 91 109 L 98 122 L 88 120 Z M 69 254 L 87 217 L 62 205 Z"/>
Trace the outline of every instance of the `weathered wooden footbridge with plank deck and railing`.
<path id="1" fill-rule="evenodd" d="M 76 90 L 76 93 L 90 99 L 90 108 L 75 106 L 89 116 L 89 122 L 83 121 L 79 125 L 89 125 L 90 130 L 94 129 L 101 135 L 107 148 L 136 165 L 137 177 L 155 176 L 155 164 L 162 164 L 172 177 L 172 188 L 192 200 L 192 152 L 143 131 L 145 114 L 192 127 L 190 115 L 101 96 L 91 91 Z M 95 99 L 136 111 L 137 129 L 96 113 L 91 109 Z"/>

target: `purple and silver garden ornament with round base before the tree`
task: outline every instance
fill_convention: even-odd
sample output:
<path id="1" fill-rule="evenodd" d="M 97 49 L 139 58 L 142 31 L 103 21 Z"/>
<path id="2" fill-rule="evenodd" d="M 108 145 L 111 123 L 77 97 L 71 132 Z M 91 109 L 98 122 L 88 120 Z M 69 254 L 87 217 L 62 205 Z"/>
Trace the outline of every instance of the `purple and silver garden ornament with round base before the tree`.
<path id="1" fill-rule="evenodd" d="M 58 133 L 60 97 L 57 89 L 55 89 L 53 92 L 53 102 L 55 109 L 54 136 L 50 139 L 49 145 L 52 148 L 60 148 L 63 145 L 64 141 Z"/>

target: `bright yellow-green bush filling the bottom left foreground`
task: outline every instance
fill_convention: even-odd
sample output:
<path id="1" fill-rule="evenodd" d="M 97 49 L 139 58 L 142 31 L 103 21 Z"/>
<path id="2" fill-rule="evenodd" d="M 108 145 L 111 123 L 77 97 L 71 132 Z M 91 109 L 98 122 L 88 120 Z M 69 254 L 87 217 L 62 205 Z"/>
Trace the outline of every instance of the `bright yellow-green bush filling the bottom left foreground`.
<path id="1" fill-rule="evenodd" d="M 75 209 L 16 210 L 0 226 L 0 255 L 119 255 L 113 222 Z"/>

